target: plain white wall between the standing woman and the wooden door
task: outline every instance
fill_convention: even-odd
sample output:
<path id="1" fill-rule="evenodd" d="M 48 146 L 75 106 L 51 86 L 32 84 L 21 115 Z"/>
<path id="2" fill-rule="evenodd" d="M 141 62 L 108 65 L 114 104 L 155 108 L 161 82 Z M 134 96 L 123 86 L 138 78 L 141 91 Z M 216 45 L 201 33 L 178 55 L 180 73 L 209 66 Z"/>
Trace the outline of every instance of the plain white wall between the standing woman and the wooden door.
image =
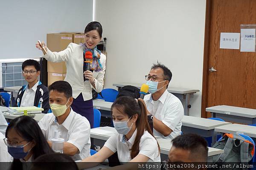
<path id="1" fill-rule="evenodd" d="M 105 88 L 145 83 L 157 60 L 173 73 L 169 86 L 199 89 L 190 115 L 201 117 L 206 0 L 94 0 L 94 20 L 107 37 Z"/>

